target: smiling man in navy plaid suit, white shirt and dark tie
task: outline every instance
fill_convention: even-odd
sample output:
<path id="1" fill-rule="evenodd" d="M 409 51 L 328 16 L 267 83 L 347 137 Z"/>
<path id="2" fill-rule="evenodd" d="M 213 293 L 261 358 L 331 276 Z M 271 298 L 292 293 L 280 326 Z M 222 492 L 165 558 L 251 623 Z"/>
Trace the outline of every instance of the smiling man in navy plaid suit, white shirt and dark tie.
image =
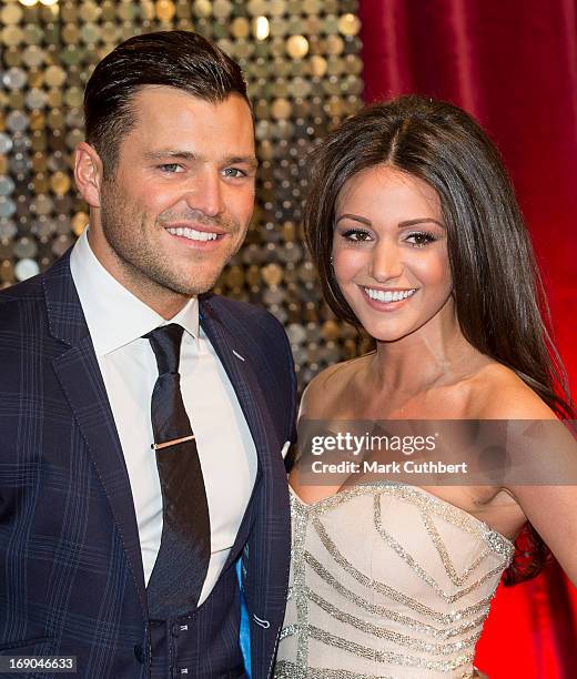
<path id="1" fill-rule="evenodd" d="M 0 660 L 269 677 L 294 369 L 274 317 L 207 292 L 253 210 L 245 83 L 203 38 L 150 33 L 84 109 L 89 229 L 0 295 Z"/>

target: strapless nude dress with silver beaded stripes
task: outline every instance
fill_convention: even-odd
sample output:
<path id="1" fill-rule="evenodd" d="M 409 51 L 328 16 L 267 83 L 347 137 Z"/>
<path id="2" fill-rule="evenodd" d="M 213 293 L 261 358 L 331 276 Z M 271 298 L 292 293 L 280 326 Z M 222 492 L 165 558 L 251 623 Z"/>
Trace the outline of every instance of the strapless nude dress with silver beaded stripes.
<path id="1" fill-rule="evenodd" d="M 414 486 L 291 493 L 276 679 L 476 676 L 475 645 L 514 545 Z"/>

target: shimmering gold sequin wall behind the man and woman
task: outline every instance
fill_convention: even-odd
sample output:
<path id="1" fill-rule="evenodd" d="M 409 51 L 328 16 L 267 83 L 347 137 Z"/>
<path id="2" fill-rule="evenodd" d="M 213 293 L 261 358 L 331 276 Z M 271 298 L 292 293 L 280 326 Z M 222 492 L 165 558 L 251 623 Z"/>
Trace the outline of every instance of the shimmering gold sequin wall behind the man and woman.
<path id="1" fill-rule="evenodd" d="M 216 292 L 285 325 L 301 386 L 357 352 L 323 303 L 301 229 L 305 156 L 361 107 L 356 0 L 0 0 L 0 285 L 43 271 L 88 222 L 72 179 L 94 64 L 145 31 L 194 30 L 239 61 L 261 161 L 246 243 Z"/>

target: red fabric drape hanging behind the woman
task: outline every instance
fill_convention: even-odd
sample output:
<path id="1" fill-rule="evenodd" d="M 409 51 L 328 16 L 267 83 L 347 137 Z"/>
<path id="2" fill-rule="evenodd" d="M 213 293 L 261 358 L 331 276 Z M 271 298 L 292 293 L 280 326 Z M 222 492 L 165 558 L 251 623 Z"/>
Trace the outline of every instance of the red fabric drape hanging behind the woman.
<path id="1" fill-rule="evenodd" d="M 360 14 L 366 101 L 406 92 L 445 99 L 496 141 L 575 386 L 577 0 L 361 0 Z M 500 588 L 479 667 L 492 679 L 576 677 L 575 591 L 556 565 L 532 582 Z"/>

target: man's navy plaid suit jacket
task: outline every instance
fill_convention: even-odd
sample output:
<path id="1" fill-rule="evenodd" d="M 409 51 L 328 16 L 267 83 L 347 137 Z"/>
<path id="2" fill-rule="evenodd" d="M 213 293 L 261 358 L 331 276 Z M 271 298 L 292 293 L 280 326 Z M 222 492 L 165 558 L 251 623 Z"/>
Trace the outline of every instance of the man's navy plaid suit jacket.
<path id="1" fill-rule="evenodd" d="M 294 367 L 281 325 L 263 310 L 207 294 L 200 314 L 257 452 L 224 571 L 242 559 L 260 679 L 271 671 L 288 578 L 280 452 L 294 439 Z M 219 634 L 210 615 L 202 627 L 201 655 L 202 639 Z M 131 488 L 67 253 L 0 293 L 0 655 L 72 655 L 83 678 L 144 678 L 136 651 L 149 643 Z"/>

